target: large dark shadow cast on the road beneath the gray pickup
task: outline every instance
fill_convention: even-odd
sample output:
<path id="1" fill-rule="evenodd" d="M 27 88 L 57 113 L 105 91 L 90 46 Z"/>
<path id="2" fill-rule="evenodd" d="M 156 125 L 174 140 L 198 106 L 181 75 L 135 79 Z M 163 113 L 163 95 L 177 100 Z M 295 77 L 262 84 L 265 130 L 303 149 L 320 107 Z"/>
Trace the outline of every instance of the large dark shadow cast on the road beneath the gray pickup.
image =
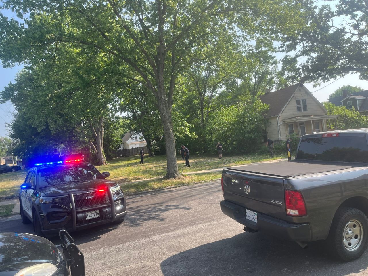
<path id="1" fill-rule="evenodd" d="M 184 275 L 333 275 L 367 269 L 368 254 L 341 263 L 331 259 L 321 242 L 302 249 L 261 233 L 241 233 L 180 252 L 161 263 L 165 276 Z"/>

